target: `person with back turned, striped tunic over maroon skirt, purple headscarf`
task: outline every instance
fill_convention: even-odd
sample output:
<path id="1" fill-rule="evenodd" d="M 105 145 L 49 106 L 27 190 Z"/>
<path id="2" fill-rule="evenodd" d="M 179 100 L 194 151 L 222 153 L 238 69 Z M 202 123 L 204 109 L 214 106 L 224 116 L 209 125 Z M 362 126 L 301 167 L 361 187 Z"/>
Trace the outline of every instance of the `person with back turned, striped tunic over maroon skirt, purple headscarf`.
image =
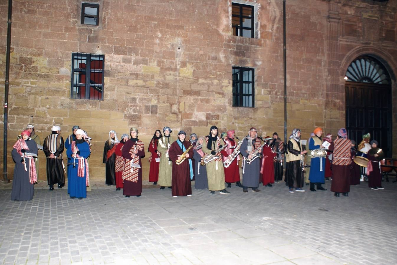
<path id="1" fill-rule="evenodd" d="M 333 151 L 331 191 L 334 192 L 335 197 L 339 197 L 339 193 L 342 193 L 343 196 L 349 196 L 350 148 L 351 140 L 347 139 L 346 129 L 339 129 L 336 140 L 328 148 Z"/>

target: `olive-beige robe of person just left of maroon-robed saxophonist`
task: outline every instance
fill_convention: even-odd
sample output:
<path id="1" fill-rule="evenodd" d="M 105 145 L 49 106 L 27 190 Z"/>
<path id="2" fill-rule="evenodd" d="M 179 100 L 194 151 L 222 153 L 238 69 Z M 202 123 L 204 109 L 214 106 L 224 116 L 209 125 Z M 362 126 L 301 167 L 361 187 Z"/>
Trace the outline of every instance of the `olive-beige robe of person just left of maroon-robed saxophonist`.
<path id="1" fill-rule="evenodd" d="M 169 149 L 168 139 L 170 139 L 170 146 L 175 141 L 172 136 L 161 137 L 158 139 L 157 151 L 161 153 L 160 155 L 160 165 L 158 168 L 158 185 L 163 187 L 172 186 L 172 161 L 168 160 L 166 153 Z"/>

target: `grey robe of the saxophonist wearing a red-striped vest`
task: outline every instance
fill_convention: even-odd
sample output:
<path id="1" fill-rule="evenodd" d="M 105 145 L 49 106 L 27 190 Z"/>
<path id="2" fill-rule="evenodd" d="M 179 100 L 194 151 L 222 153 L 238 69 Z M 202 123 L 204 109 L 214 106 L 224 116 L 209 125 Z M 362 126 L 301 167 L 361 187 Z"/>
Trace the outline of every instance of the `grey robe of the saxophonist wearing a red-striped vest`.
<path id="1" fill-rule="evenodd" d="M 251 164 L 245 162 L 249 153 L 246 152 L 248 149 L 248 141 L 251 139 L 244 139 L 240 147 L 240 153 L 244 156 L 243 158 L 243 186 L 245 187 L 258 187 L 259 186 L 259 173 L 260 173 L 260 158 L 256 158 Z"/>

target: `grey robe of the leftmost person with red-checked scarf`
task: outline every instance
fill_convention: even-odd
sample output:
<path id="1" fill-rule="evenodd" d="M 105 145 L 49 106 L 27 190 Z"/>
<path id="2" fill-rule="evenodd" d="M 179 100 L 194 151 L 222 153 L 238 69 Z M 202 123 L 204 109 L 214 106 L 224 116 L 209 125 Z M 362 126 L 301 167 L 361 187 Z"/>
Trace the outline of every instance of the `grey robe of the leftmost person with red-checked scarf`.
<path id="1" fill-rule="evenodd" d="M 29 150 L 28 153 L 37 154 L 37 144 L 33 140 L 25 141 Z M 14 175 L 12 179 L 11 200 L 31 200 L 33 199 L 34 188 L 33 184 L 29 182 L 29 158 L 26 158 L 26 168 L 23 166 L 21 160 L 23 159 L 17 152 L 17 149 L 12 149 L 12 159 L 15 161 Z"/>

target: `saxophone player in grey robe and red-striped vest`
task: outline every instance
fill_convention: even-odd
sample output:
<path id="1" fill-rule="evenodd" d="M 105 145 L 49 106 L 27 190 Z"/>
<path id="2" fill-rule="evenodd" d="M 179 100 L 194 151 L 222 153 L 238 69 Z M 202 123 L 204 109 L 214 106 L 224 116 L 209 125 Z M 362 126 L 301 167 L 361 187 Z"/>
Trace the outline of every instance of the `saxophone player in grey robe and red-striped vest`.
<path id="1" fill-rule="evenodd" d="M 254 159 L 250 164 L 247 163 L 247 159 L 254 158 L 255 153 L 262 153 L 260 148 L 260 138 L 256 137 L 256 128 L 251 127 L 248 132 L 248 136 L 244 138 L 243 143 L 240 147 L 240 153 L 243 155 L 243 192 L 247 193 L 248 188 L 251 187 L 252 191 L 260 192 L 259 186 L 259 171 L 260 171 L 260 159 Z"/>

